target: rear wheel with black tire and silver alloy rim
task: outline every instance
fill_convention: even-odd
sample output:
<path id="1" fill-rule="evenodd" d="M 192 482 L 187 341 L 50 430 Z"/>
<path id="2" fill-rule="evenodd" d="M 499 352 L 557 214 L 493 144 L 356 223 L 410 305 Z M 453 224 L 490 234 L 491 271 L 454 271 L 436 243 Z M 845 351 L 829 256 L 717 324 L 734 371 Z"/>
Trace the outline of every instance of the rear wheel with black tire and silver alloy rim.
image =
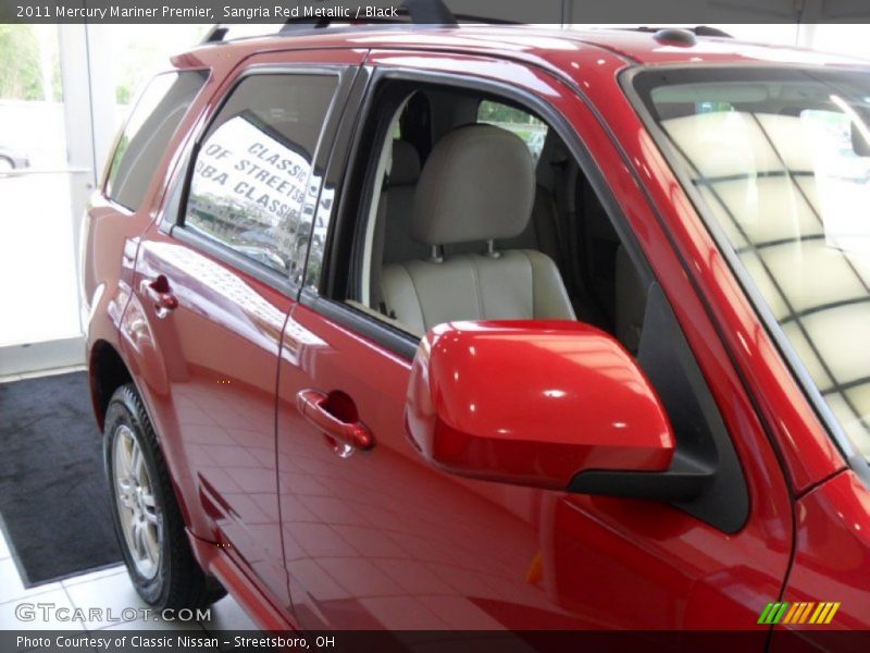
<path id="1" fill-rule="evenodd" d="M 224 596 L 194 557 L 163 453 L 132 383 L 109 401 L 103 459 L 117 543 L 139 596 L 158 611 L 206 607 Z"/>

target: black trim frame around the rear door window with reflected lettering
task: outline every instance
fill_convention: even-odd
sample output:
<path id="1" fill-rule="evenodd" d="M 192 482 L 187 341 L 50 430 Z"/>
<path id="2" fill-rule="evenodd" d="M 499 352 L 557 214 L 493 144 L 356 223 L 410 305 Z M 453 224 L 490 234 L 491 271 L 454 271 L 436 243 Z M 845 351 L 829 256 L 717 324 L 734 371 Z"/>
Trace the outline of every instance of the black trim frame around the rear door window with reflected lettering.
<path id="1" fill-rule="evenodd" d="M 359 69 L 360 66 L 356 64 L 266 63 L 253 64 L 250 67 L 241 71 L 235 77 L 235 79 L 233 79 L 232 86 L 223 93 L 221 101 L 214 107 L 211 113 L 200 121 L 196 137 L 190 139 L 190 143 L 183 148 L 184 152 L 179 157 L 178 172 L 175 176 L 173 187 L 169 193 L 166 193 L 167 199 L 164 202 L 165 206 L 163 208 L 163 214 L 159 227 L 160 231 L 173 238 L 177 238 L 182 243 L 185 243 L 195 249 L 203 251 L 209 256 L 212 256 L 227 263 L 228 266 L 253 276 L 258 281 L 265 283 L 291 299 L 298 299 L 300 284 L 295 282 L 290 274 L 284 274 L 274 268 L 270 268 L 264 263 L 246 257 L 232 247 L 228 247 L 219 241 L 215 241 L 214 238 L 210 238 L 204 234 L 198 233 L 190 229 L 185 229 L 184 212 L 187 207 L 187 198 L 190 193 L 190 181 L 192 178 L 194 168 L 196 165 L 200 147 L 202 146 L 202 143 L 206 139 L 212 124 L 214 124 L 214 121 L 221 114 L 224 106 L 236 91 L 238 86 L 249 77 L 259 75 L 333 76 L 337 79 L 337 84 L 332 101 L 330 102 L 330 107 L 326 110 L 323 124 L 321 125 L 321 132 L 318 136 L 318 144 L 312 152 L 313 172 L 318 160 L 321 159 L 321 152 L 328 152 L 334 146 L 334 138 L 326 139 L 326 135 L 330 133 L 331 123 L 340 120 L 343 113 L 341 110 L 348 100 L 350 86 Z M 309 180 L 306 183 L 306 187 L 308 187 L 310 178 L 311 174 L 309 174 Z M 181 185 L 181 190 L 178 190 L 177 185 Z M 321 185 L 320 190 L 322 192 L 322 189 L 323 186 Z M 173 195 L 175 193 L 179 193 L 177 196 L 177 206 L 175 206 L 175 202 L 173 201 Z M 316 207 L 319 200 L 320 193 L 318 193 L 316 197 L 306 196 L 306 199 L 301 205 L 300 217 L 304 213 L 307 206 L 313 205 Z M 310 239 L 308 246 L 310 247 Z M 308 249 L 308 247 L 306 249 Z M 303 257 L 303 261 L 307 260 L 308 251 L 304 252 Z"/>

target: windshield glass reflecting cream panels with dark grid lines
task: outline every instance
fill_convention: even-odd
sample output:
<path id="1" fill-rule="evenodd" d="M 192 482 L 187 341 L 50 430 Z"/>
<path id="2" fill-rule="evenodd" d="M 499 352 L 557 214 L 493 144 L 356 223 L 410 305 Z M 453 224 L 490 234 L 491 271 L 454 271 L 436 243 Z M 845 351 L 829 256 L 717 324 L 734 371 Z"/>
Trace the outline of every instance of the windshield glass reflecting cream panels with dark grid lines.
<path id="1" fill-rule="evenodd" d="M 855 346 L 870 325 L 870 226 L 861 209 L 870 201 L 870 78 L 685 73 L 659 75 L 642 96 L 700 194 L 701 213 L 870 458 L 870 353 Z"/>

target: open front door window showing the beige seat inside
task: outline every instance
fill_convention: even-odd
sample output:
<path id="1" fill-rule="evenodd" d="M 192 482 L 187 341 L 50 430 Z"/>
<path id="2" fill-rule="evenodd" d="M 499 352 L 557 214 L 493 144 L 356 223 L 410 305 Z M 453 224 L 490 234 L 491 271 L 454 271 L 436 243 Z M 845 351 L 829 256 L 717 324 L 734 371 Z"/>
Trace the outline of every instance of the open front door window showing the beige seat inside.
<path id="1" fill-rule="evenodd" d="M 452 124 L 435 135 L 428 152 L 420 140 L 406 137 L 407 130 L 396 131 L 396 124 L 405 127 L 427 120 L 432 108 L 414 102 L 425 93 L 438 97 L 437 115 L 432 123 Z M 420 337 L 439 322 L 459 319 L 508 315 L 526 319 L 577 317 L 617 334 L 630 350 L 636 350 L 645 287 L 577 163 L 560 159 L 561 165 L 551 164 L 555 157 L 567 151 L 561 137 L 538 115 L 493 96 L 469 97 L 469 91 L 460 89 L 430 89 L 415 84 L 396 84 L 385 94 L 387 99 L 377 109 L 376 120 L 369 123 L 361 137 L 358 172 L 355 182 L 350 182 L 360 184 L 360 189 L 352 193 L 362 198 L 353 202 L 363 213 L 359 217 L 358 236 L 352 250 L 332 254 L 350 266 L 341 280 L 347 283 L 341 299 L 412 337 Z M 487 120 L 468 124 L 469 107 Z M 543 143 L 537 146 L 543 157 L 537 168 L 543 165 L 550 172 L 544 181 L 535 173 L 533 157 L 526 158 L 531 164 L 527 167 L 520 157 L 527 156 L 531 136 L 549 144 L 546 148 Z M 505 157 L 499 159 L 502 175 L 490 175 L 487 181 L 484 171 L 478 177 L 481 168 L 476 164 L 456 172 L 468 165 L 462 162 L 463 157 L 480 156 L 481 144 L 486 144 L 487 149 L 498 148 Z M 458 149 L 465 153 L 457 155 Z M 460 159 L 438 174 L 426 176 L 435 153 L 439 161 L 450 156 Z M 421 189 L 424 177 L 427 185 Z M 475 181 L 469 184 L 468 178 Z M 575 242 L 570 243 L 571 209 L 567 198 L 577 194 L 585 198 L 586 219 L 584 229 L 573 232 Z M 419 210 L 423 202 L 436 197 L 433 207 L 437 211 Z M 451 201 L 451 208 L 445 209 Z M 501 202 L 500 208 L 493 208 L 494 202 Z M 445 225 L 435 229 L 437 236 L 430 233 L 432 225 L 425 227 L 430 231 L 421 226 L 423 215 L 434 212 L 439 215 L 439 224 Z M 462 218 L 456 222 L 449 218 L 458 214 Z M 326 232 L 325 224 L 313 230 L 307 283 L 314 292 L 321 281 Z M 334 245 L 346 246 L 344 241 Z M 586 248 L 595 251 L 594 257 L 588 257 L 588 283 L 580 279 L 586 271 L 573 264 L 576 252 Z M 534 294 L 525 293 L 531 287 L 527 280 L 512 276 L 518 271 L 522 276 L 532 269 L 530 266 L 535 274 L 537 270 L 547 271 L 546 287 L 554 293 L 551 303 L 535 304 Z M 449 292 L 440 287 L 448 276 Z M 485 300 L 474 294 L 476 283 L 486 286 L 480 291 Z M 495 283 L 492 288 L 490 283 Z M 617 286 L 626 288 L 620 294 L 620 301 Z M 538 287 L 537 297 L 546 292 L 544 286 Z"/>

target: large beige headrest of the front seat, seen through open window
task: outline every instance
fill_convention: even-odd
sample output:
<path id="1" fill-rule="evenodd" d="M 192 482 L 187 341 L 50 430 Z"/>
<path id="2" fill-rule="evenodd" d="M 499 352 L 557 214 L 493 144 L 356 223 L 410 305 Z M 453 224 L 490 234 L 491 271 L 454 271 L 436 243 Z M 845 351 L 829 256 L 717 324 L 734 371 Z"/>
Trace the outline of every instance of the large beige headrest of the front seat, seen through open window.
<path id="1" fill-rule="evenodd" d="M 535 199 L 535 165 L 522 139 L 492 125 L 442 138 L 414 194 L 411 235 L 426 245 L 512 238 Z"/>

